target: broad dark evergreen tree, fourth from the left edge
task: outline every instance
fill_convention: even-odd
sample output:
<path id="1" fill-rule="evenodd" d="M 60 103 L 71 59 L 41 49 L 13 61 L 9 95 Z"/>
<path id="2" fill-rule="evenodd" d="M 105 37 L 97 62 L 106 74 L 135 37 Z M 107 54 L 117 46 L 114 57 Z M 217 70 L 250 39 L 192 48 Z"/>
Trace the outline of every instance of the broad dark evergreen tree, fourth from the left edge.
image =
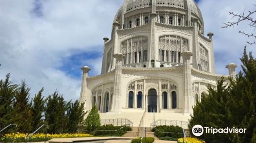
<path id="1" fill-rule="evenodd" d="M 46 103 L 46 122 L 49 125 L 49 133 L 64 133 L 67 131 L 67 110 L 70 104 L 64 101 L 62 95 L 60 96 L 55 91 L 51 96 L 48 97 Z"/>

